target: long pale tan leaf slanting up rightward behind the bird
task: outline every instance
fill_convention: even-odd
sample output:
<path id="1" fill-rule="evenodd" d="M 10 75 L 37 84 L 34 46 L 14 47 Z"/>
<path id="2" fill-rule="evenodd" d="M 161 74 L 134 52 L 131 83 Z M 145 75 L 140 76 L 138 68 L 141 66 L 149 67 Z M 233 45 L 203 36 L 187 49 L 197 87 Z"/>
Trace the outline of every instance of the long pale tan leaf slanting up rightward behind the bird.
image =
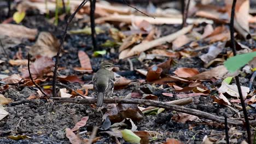
<path id="1" fill-rule="evenodd" d="M 183 29 L 179 30 L 176 33 L 172 33 L 172 34 L 167 35 L 165 37 L 161 37 L 159 39 L 149 41 L 148 43 L 138 44 L 138 45 L 132 47 L 132 49 L 128 53 L 126 53 L 126 55 L 123 55 L 123 57 L 120 57 L 120 55 L 119 55 L 119 59 L 124 59 L 124 58 L 127 58 L 127 57 L 137 55 L 138 53 L 149 50 L 149 49 L 151 49 L 155 46 L 164 44 L 166 42 L 170 43 L 172 40 L 176 39 L 180 35 L 188 33 L 192 28 L 193 28 L 193 26 L 184 27 Z"/>

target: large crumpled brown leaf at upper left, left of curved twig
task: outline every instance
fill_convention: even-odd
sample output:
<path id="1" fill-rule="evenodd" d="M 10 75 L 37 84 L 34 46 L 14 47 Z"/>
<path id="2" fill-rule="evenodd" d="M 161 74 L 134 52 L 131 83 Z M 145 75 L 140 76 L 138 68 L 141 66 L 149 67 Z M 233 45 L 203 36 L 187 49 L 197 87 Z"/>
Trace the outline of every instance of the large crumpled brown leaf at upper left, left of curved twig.
<path id="1" fill-rule="evenodd" d="M 60 41 L 49 32 L 40 32 L 36 41 L 30 49 L 32 56 L 41 55 L 54 57 L 60 47 Z"/>

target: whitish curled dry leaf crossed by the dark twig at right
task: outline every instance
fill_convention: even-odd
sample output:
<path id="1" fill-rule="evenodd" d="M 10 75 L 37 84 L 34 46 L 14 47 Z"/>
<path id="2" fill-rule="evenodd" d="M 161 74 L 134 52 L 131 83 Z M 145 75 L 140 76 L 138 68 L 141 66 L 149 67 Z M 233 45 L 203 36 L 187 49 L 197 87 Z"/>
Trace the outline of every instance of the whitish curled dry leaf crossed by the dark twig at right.
<path id="1" fill-rule="evenodd" d="M 242 95 L 243 98 L 246 98 L 248 92 L 250 91 L 250 88 L 241 86 Z M 222 82 L 222 86 L 218 88 L 219 93 L 228 93 L 232 97 L 239 98 L 239 93 L 236 85 L 228 85 L 226 82 Z"/>

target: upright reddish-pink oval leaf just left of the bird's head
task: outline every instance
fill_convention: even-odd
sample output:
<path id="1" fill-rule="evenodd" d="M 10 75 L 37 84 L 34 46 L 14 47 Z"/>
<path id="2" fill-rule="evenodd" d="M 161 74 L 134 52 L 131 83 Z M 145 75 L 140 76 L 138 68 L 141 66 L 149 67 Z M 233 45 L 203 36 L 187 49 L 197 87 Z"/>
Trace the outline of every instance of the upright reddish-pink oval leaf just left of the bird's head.
<path id="1" fill-rule="evenodd" d="M 78 51 L 78 58 L 82 68 L 92 71 L 90 58 L 84 51 Z"/>

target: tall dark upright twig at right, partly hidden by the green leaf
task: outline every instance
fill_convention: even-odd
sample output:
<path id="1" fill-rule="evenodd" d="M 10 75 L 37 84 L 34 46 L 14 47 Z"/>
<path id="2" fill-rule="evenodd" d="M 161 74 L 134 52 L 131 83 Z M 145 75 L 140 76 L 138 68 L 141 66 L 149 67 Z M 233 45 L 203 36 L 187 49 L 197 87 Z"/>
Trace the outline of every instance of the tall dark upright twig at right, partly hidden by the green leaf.
<path id="1" fill-rule="evenodd" d="M 234 17 L 235 17 L 235 8 L 236 8 L 236 0 L 233 0 L 232 3 L 232 9 L 231 9 L 231 17 L 230 17 L 230 38 L 231 38 L 231 47 L 232 47 L 232 51 L 234 56 L 236 56 L 236 44 L 235 44 L 235 37 L 234 37 Z M 246 106 L 245 106 L 245 101 L 243 100 L 243 95 L 242 95 L 242 90 L 241 90 L 241 86 L 240 86 L 240 82 L 239 82 L 239 78 L 238 76 L 235 76 L 235 80 L 236 80 L 236 86 L 238 89 L 238 93 L 239 93 L 239 97 L 241 100 L 241 105 L 243 107 L 243 115 L 245 116 L 245 124 L 246 124 L 246 131 L 247 131 L 247 139 L 248 139 L 248 143 L 251 144 L 251 129 L 250 129 L 250 123 L 249 123 L 249 119 L 248 119 L 248 115 L 247 115 L 247 110 L 246 110 Z"/>

